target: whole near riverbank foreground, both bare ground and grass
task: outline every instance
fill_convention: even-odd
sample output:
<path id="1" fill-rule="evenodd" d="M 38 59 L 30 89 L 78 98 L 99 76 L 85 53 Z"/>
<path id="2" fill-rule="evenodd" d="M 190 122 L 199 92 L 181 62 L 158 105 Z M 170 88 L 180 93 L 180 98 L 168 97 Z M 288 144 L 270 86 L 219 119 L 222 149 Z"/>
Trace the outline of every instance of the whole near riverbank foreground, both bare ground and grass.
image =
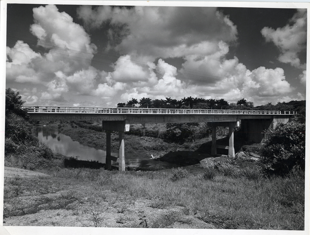
<path id="1" fill-rule="evenodd" d="M 265 177 L 255 168 L 214 164 L 204 173 L 5 170 L 3 224 L 303 230 L 303 172 Z"/>

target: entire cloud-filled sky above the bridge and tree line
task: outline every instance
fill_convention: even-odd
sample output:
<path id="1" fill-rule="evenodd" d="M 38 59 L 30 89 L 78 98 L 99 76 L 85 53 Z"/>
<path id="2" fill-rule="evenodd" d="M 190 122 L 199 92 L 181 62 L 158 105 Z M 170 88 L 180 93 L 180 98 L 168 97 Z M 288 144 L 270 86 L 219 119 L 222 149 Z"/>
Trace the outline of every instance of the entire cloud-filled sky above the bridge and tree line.
<path id="1" fill-rule="evenodd" d="M 26 104 L 305 100 L 307 9 L 7 4 L 6 88 Z"/>

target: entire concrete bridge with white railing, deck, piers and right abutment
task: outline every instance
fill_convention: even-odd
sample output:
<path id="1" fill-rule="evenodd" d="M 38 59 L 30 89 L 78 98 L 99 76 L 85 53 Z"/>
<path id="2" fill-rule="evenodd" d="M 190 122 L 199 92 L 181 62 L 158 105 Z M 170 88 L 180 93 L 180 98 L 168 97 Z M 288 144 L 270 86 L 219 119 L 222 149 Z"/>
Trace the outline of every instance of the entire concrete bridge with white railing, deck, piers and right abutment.
<path id="1" fill-rule="evenodd" d="M 24 105 L 31 120 L 37 121 L 86 121 L 101 120 L 106 131 L 106 169 L 111 160 L 119 163 L 119 170 L 125 171 L 124 133 L 130 124 L 207 122 L 212 127 L 211 154 L 217 148 L 228 149 L 228 156 L 235 157 L 233 128 L 239 127 L 247 133 L 248 141 L 260 143 L 264 130 L 274 129 L 277 123 L 286 123 L 295 113 L 257 110 L 214 110 L 214 109 L 166 109 L 166 108 L 106 108 Z M 216 127 L 229 127 L 229 146 L 216 144 Z M 111 156 L 111 131 L 119 132 L 119 158 Z"/>

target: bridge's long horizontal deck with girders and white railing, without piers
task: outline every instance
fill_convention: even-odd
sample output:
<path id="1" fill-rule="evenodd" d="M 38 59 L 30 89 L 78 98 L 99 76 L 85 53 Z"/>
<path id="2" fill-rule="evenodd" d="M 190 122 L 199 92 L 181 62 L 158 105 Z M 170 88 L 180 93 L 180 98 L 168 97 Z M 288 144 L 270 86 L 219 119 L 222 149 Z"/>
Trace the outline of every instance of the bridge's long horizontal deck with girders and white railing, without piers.
<path id="1" fill-rule="evenodd" d="M 294 113 L 280 111 L 167 109 L 167 108 L 107 108 L 24 105 L 32 120 L 126 120 L 135 123 L 173 122 L 235 122 L 238 119 L 286 118 Z"/>

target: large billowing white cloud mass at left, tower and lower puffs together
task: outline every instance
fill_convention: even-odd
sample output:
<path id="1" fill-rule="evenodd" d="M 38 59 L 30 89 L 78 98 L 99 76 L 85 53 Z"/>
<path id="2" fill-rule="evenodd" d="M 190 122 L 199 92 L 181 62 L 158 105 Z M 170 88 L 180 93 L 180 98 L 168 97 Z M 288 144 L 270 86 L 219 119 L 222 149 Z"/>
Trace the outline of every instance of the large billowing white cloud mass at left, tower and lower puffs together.
<path id="1" fill-rule="evenodd" d="M 92 94 L 97 80 L 107 73 L 90 66 L 96 53 L 90 36 L 55 5 L 33 8 L 33 18 L 30 31 L 38 39 L 37 46 L 47 52 L 36 53 L 23 41 L 17 41 L 13 48 L 7 47 L 7 79 L 44 84 L 46 90 L 40 97 L 44 100 L 64 101 L 69 90 Z M 35 94 L 28 94 L 31 95 Z"/>

